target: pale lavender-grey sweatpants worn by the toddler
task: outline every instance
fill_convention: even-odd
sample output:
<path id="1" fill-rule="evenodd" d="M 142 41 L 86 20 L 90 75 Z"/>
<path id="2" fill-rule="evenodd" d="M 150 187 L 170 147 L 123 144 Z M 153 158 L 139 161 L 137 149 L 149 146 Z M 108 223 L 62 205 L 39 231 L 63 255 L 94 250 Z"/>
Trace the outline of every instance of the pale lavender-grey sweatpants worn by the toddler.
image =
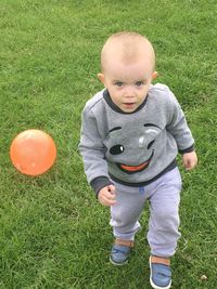
<path id="1" fill-rule="evenodd" d="M 178 168 L 142 187 L 113 182 L 117 202 L 111 207 L 111 222 L 116 238 L 133 240 L 140 229 L 139 218 L 144 203 L 150 203 L 148 241 L 151 254 L 169 258 L 175 254 L 180 237 L 179 202 L 181 176 Z"/>

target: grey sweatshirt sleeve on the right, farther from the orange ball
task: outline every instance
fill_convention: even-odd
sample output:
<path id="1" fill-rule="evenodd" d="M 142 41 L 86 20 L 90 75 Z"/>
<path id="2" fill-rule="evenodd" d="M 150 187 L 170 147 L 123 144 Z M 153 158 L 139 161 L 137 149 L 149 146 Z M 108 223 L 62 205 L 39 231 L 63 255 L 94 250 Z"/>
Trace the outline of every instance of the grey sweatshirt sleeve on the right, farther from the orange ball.
<path id="1" fill-rule="evenodd" d="M 170 108 L 167 131 L 169 131 L 176 140 L 180 154 L 194 150 L 194 139 L 188 127 L 184 114 L 175 95 L 169 91 Z"/>

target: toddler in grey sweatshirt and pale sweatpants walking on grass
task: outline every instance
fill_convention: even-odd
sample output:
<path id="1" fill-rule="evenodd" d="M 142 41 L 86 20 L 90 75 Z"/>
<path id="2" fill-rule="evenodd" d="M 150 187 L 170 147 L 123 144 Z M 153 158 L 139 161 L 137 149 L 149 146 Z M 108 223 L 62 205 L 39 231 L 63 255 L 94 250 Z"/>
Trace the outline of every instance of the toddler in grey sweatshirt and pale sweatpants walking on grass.
<path id="1" fill-rule="evenodd" d="M 170 258 L 180 237 L 181 178 L 176 157 L 191 170 L 197 162 L 194 140 L 181 107 L 156 77 L 150 41 L 136 32 L 112 35 L 101 52 L 104 89 L 82 111 L 79 150 L 89 184 L 111 207 L 114 265 L 128 261 L 139 218 L 150 203 L 150 283 L 170 288 Z"/>

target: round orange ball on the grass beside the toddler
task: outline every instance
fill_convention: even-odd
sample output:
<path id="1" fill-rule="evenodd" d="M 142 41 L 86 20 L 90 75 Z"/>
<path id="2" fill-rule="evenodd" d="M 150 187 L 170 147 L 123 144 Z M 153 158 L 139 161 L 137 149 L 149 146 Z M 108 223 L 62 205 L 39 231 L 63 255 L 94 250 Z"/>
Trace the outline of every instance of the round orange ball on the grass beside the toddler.
<path id="1" fill-rule="evenodd" d="M 13 140 L 10 157 L 14 167 L 22 173 L 39 175 L 54 163 L 56 147 L 48 133 L 40 130 L 26 130 Z"/>

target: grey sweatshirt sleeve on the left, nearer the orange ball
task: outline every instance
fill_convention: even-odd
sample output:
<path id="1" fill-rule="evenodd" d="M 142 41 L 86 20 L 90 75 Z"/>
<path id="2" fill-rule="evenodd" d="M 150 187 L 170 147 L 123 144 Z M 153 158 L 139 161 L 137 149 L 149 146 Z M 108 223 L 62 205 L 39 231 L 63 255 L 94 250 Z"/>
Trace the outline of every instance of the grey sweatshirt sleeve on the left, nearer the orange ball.
<path id="1" fill-rule="evenodd" d="M 94 115 L 88 107 L 82 111 L 78 148 L 82 156 L 88 183 L 92 186 L 95 194 L 98 194 L 102 187 L 112 184 L 112 182 L 107 173 L 105 146 L 99 134 Z"/>

